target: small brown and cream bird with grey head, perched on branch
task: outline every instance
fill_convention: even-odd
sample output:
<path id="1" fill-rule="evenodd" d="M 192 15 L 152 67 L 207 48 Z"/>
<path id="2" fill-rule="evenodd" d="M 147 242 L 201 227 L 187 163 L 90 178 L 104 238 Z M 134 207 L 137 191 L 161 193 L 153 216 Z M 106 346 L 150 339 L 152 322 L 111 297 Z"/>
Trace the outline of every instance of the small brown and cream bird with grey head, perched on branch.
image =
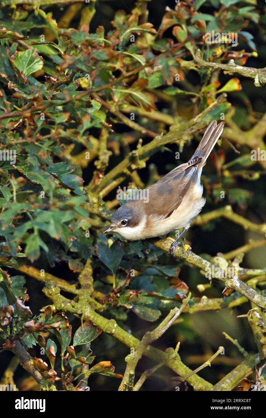
<path id="1" fill-rule="evenodd" d="M 131 199 L 114 213 L 110 226 L 103 232 L 117 232 L 130 240 L 143 240 L 169 234 L 184 228 L 171 244 L 174 255 L 181 238 L 206 203 L 201 185 L 201 172 L 213 147 L 223 132 L 224 122 L 213 120 L 191 159 L 170 171 L 145 189 L 148 199 Z M 144 191 L 143 191 L 144 192 Z"/>

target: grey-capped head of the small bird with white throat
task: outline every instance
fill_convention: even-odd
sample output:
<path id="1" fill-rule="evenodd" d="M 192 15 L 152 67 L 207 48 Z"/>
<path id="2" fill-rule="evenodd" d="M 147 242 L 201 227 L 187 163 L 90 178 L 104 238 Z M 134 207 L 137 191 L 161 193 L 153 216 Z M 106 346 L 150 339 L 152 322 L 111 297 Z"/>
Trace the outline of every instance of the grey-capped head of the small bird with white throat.
<path id="1" fill-rule="evenodd" d="M 118 232 L 128 240 L 138 240 L 136 233 L 141 224 L 143 214 L 137 206 L 124 204 L 113 215 L 110 226 L 103 232 Z"/>

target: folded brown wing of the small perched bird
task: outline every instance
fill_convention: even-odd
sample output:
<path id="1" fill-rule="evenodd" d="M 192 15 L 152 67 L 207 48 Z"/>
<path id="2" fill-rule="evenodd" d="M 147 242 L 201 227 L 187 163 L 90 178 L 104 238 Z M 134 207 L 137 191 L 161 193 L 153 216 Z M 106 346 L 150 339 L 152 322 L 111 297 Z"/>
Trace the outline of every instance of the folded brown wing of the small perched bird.
<path id="1" fill-rule="evenodd" d="M 146 214 L 169 217 L 181 204 L 186 191 L 191 186 L 201 158 L 195 158 L 186 164 L 181 164 L 166 174 L 157 183 L 148 187 L 149 204 Z"/>

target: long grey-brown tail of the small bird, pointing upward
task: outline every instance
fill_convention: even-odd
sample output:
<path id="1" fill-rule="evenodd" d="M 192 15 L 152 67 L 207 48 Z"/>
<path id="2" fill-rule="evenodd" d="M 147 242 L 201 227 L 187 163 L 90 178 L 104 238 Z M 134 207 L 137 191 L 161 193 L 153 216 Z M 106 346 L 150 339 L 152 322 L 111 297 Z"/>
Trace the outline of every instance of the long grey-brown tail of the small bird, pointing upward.
<path id="1" fill-rule="evenodd" d="M 201 162 L 199 163 L 198 166 L 199 167 L 204 166 L 208 156 L 211 153 L 211 150 L 213 149 L 214 145 L 220 138 L 221 133 L 223 132 L 223 126 L 224 126 L 224 122 L 220 122 L 219 125 L 217 125 L 216 120 L 213 120 L 210 123 L 210 125 L 206 129 L 205 134 L 203 135 L 203 138 L 200 144 L 198 145 L 198 148 L 196 149 L 195 153 L 191 157 L 190 161 L 196 157 L 201 158 Z"/>

